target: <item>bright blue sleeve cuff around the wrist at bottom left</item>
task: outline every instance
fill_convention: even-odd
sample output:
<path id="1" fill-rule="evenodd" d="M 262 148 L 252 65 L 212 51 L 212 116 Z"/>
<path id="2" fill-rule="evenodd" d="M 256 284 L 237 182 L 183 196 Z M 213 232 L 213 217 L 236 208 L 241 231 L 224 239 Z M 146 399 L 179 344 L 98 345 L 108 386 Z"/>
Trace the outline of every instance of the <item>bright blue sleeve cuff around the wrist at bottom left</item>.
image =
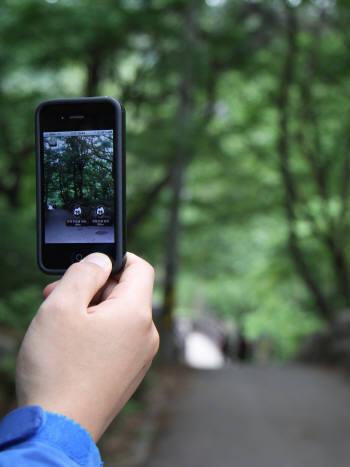
<path id="1" fill-rule="evenodd" d="M 0 423 L 0 467 L 101 467 L 89 433 L 69 418 L 27 406 Z"/>

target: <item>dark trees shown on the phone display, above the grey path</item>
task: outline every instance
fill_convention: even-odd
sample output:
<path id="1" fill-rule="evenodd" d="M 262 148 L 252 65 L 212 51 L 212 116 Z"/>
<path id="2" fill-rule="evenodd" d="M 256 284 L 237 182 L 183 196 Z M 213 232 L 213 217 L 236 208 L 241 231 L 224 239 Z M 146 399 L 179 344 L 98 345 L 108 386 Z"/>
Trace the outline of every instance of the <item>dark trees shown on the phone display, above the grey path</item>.
<path id="1" fill-rule="evenodd" d="M 112 134 L 44 139 L 45 205 L 68 209 L 110 204 L 114 196 Z"/>

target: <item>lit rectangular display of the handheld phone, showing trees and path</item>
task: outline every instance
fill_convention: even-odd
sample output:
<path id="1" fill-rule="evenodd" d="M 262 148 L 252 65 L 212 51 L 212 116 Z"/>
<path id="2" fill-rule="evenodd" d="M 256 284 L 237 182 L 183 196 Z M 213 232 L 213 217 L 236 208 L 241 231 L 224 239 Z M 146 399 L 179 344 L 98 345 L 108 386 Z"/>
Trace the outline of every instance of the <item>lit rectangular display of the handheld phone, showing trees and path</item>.
<path id="1" fill-rule="evenodd" d="M 43 132 L 44 242 L 114 243 L 114 130 Z"/>

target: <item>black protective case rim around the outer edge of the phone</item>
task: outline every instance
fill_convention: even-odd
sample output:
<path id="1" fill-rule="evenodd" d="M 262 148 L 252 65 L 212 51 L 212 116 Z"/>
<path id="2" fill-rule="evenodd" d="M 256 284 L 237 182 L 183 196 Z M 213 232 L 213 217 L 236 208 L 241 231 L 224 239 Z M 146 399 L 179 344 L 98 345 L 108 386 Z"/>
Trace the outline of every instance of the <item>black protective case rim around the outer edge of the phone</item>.
<path id="1" fill-rule="evenodd" d="M 89 102 L 109 102 L 113 104 L 117 122 L 116 152 L 121 157 L 116 158 L 115 180 L 116 197 L 116 255 L 111 258 L 112 274 L 122 270 L 126 262 L 126 164 L 125 164 L 125 109 L 123 105 L 112 97 L 81 97 L 67 99 L 50 99 L 41 102 L 35 111 L 35 148 L 36 148 L 36 206 L 37 206 L 37 261 L 39 268 L 46 274 L 63 274 L 66 269 L 48 269 L 42 261 L 42 206 L 41 206 L 41 159 L 40 159 L 40 112 L 48 105 L 54 104 L 86 104 Z"/>

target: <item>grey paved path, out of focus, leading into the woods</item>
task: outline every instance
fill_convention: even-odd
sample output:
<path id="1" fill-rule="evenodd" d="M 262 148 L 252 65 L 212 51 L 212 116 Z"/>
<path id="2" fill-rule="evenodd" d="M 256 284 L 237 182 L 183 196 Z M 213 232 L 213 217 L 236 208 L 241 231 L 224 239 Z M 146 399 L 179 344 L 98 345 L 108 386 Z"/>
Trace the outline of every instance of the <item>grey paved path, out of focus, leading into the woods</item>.
<path id="1" fill-rule="evenodd" d="M 145 467 L 348 467 L 350 380 L 301 366 L 192 371 Z"/>

